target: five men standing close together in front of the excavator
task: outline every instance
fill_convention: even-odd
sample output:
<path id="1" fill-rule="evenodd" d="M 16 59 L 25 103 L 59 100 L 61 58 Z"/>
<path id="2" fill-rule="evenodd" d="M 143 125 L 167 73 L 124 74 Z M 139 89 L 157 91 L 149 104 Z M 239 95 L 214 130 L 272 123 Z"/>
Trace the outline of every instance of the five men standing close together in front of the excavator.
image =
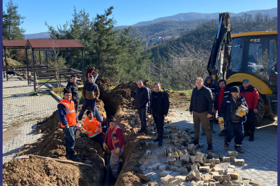
<path id="1" fill-rule="evenodd" d="M 213 150 L 212 133 L 215 114 L 218 112 L 219 123 L 224 123 L 224 130 L 218 136 L 225 136 L 224 148 L 229 149 L 234 138 L 234 149 L 244 153 L 241 148 L 244 136 L 250 136 L 249 141 L 254 141 L 254 130 L 259 92 L 250 86 L 248 79 L 243 79 L 243 86 L 227 87 L 224 79 L 218 81 L 218 88 L 213 83 L 212 76 L 207 76 L 205 81 L 198 77 L 196 87 L 192 90 L 189 113 L 194 120 L 194 145 L 198 144 L 200 123 L 202 135 L 206 133 L 207 151 Z"/>

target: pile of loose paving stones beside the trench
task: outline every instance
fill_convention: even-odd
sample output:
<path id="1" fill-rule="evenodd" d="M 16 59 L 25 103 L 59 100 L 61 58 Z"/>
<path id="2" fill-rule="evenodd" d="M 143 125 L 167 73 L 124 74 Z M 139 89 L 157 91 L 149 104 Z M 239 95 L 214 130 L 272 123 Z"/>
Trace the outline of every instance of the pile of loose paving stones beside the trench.
<path id="1" fill-rule="evenodd" d="M 127 117 L 127 119 L 131 120 L 131 127 L 140 127 L 138 114 L 131 114 Z M 147 134 L 157 136 L 156 125 L 150 115 L 147 116 Z M 143 186 L 259 185 L 259 183 L 252 182 L 250 178 L 239 178 L 235 165 L 245 165 L 245 161 L 237 158 L 238 152 L 227 151 L 228 156 L 219 156 L 212 152 L 203 154 L 200 149 L 203 147 L 203 143 L 198 145 L 192 144 L 194 141 L 194 131 L 191 131 L 189 127 L 178 130 L 176 125 L 171 123 L 171 120 L 165 119 L 164 138 L 169 138 L 167 145 L 165 145 L 169 147 L 162 151 L 162 156 L 166 157 L 165 163 L 153 165 L 155 171 L 161 171 L 160 183 L 153 180 L 155 172 L 145 175 L 139 174 L 139 178 L 148 182 Z M 152 141 L 146 142 L 147 148 L 152 145 L 154 145 Z M 146 156 L 149 156 L 151 153 L 152 151 L 147 149 Z M 234 163 L 234 165 L 228 165 L 226 169 L 216 166 L 223 162 Z"/>

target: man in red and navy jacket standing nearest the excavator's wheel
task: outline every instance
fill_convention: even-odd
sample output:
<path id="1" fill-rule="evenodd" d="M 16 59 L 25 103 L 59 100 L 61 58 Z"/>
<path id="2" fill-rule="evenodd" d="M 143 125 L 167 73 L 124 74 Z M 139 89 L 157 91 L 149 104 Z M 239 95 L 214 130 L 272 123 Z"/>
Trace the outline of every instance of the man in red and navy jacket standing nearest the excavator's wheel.
<path id="1" fill-rule="evenodd" d="M 241 87 L 240 95 L 245 98 L 245 101 L 248 105 L 249 112 L 247 116 L 247 121 L 244 123 L 244 136 L 250 136 L 249 141 L 254 141 L 254 130 L 256 115 L 258 112 L 258 101 L 259 101 L 259 92 L 254 88 L 249 86 L 249 80 L 243 79 L 243 87 Z"/>

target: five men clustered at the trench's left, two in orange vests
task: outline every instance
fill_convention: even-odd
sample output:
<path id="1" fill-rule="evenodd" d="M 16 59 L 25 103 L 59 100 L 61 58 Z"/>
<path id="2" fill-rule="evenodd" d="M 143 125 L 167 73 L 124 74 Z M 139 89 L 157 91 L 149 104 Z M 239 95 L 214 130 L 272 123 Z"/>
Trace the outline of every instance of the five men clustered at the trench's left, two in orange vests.
<path id="1" fill-rule="evenodd" d="M 99 143 L 104 150 L 111 151 L 110 165 L 114 178 L 118 178 L 119 174 L 119 158 L 124 151 L 124 136 L 121 128 L 117 125 L 117 120 L 110 116 L 104 121 L 97 121 L 95 117 L 95 105 L 100 96 L 98 86 L 93 82 L 93 76 L 88 75 L 88 82 L 84 84 L 82 89 L 82 97 L 84 105 L 77 116 L 77 108 L 80 103 L 78 94 L 77 76 L 71 75 L 71 81 L 64 88 L 64 96 L 62 101 L 57 105 L 58 117 L 60 125 L 65 135 L 66 158 L 72 161 L 79 161 L 80 158 L 74 151 L 75 147 L 75 127 L 82 128 L 79 121 L 82 120 L 84 112 L 90 105 L 91 110 L 87 110 L 86 119 L 83 128 L 86 134 L 93 141 Z"/>

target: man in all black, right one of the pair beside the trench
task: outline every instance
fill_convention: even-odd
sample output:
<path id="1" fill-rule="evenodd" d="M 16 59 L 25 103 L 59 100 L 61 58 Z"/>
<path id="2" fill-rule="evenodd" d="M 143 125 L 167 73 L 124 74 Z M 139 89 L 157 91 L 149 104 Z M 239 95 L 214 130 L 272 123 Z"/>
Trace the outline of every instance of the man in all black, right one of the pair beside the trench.
<path id="1" fill-rule="evenodd" d="M 163 121 L 169 110 L 169 99 L 167 93 L 161 89 L 160 83 L 155 83 L 154 87 L 155 91 L 151 92 L 151 114 L 156 123 L 158 138 L 153 142 L 158 141 L 158 146 L 162 146 Z"/>

